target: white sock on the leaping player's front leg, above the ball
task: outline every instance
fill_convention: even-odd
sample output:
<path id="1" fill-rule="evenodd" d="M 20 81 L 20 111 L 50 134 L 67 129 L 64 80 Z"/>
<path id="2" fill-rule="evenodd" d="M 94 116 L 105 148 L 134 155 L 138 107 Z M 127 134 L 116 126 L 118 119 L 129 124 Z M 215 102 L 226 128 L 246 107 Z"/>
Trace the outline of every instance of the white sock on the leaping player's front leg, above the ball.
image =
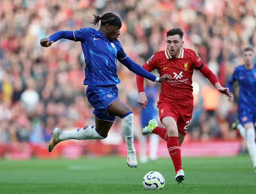
<path id="1" fill-rule="evenodd" d="M 133 113 L 122 118 L 122 131 L 126 141 L 127 153 L 135 152 L 133 143 Z"/>

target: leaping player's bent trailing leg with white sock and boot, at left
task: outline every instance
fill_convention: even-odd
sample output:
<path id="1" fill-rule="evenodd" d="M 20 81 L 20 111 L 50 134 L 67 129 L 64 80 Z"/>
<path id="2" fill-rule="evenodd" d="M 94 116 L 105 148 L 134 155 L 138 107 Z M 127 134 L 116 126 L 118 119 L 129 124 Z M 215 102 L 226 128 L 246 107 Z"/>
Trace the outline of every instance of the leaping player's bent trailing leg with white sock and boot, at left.
<path id="1" fill-rule="evenodd" d="M 59 128 L 52 130 L 52 137 L 48 144 L 49 152 L 52 152 L 53 148 L 61 141 L 65 140 L 91 140 L 91 139 L 104 139 L 108 136 L 113 122 L 99 120 L 95 118 L 95 126 L 85 126 L 80 129 L 62 131 Z"/>

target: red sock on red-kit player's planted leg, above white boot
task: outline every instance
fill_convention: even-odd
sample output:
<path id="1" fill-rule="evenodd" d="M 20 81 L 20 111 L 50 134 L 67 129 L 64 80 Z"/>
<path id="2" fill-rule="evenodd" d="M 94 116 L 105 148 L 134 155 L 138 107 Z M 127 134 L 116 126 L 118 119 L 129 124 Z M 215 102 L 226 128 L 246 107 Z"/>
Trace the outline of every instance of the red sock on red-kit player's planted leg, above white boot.
<path id="1" fill-rule="evenodd" d="M 167 140 L 167 148 L 168 152 L 172 158 L 172 162 L 175 168 L 175 172 L 179 170 L 182 170 L 181 167 L 181 150 L 180 150 L 180 144 L 178 141 L 178 137 L 168 137 Z"/>

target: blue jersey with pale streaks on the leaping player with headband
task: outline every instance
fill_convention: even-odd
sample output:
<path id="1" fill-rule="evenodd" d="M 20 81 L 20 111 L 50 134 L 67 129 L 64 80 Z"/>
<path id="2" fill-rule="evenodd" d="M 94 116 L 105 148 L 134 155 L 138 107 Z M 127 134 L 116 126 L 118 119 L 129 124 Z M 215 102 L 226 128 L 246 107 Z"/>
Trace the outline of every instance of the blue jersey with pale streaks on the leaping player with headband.
<path id="1" fill-rule="evenodd" d="M 117 59 L 126 58 L 120 42 L 110 42 L 100 30 L 80 28 L 74 30 L 74 38 L 80 41 L 85 58 L 84 85 L 109 86 L 120 83 L 117 75 Z"/>

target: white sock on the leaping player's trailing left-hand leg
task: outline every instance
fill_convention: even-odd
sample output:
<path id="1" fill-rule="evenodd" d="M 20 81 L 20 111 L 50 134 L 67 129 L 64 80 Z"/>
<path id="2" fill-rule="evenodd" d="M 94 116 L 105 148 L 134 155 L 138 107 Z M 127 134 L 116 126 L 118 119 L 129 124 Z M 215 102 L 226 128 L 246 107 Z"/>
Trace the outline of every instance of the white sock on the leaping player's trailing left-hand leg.
<path id="1" fill-rule="evenodd" d="M 84 127 L 85 128 L 85 127 Z M 102 137 L 98 132 L 95 130 L 95 126 L 89 125 L 87 128 L 80 128 L 70 131 L 64 131 L 60 134 L 59 139 L 61 141 L 64 140 L 92 140 L 92 139 L 105 139 L 106 137 Z"/>

